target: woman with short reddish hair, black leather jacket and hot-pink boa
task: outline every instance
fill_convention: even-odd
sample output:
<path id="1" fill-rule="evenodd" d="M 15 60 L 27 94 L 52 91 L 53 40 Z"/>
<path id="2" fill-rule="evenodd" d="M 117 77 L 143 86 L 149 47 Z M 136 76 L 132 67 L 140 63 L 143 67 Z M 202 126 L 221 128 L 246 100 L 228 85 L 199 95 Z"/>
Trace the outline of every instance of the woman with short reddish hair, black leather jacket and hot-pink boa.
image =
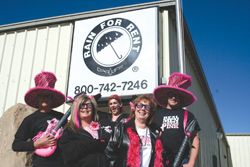
<path id="1" fill-rule="evenodd" d="M 141 95 L 133 104 L 131 119 L 115 126 L 105 149 L 109 167 L 163 167 L 160 132 L 151 124 L 155 103 Z"/>

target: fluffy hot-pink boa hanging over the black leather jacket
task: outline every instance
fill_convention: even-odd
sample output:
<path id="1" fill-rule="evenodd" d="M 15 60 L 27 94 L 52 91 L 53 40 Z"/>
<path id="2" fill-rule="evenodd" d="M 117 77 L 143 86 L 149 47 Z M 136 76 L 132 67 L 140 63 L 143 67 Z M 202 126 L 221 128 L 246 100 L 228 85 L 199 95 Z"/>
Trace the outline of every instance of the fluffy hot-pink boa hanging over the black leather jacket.
<path id="1" fill-rule="evenodd" d="M 128 148 L 127 155 L 127 167 L 140 167 L 141 157 L 140 157 L 140 137 L 133 132 L 132 128 L 127 129 L 128 138 L 130 140 L 130 145 Z M 155 159 L 154 167 L 163 167 L 162 158 L 163 146 L 160 139 L 155 142 Z"/>

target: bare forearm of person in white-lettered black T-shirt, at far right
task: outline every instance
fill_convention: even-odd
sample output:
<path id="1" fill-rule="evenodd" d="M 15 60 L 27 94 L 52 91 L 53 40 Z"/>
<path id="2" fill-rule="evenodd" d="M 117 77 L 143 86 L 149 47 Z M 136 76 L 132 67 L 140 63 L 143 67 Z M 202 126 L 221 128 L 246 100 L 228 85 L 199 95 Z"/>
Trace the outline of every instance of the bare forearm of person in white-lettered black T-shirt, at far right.
<path id="1" fill-rule="evenodd" d="M 190 152 L 189 161 L 187 164 L 184 164 L 183 167 L 194 167 L 195 161 L 199 153 L 199 145 L 200 145 L 200 139 L 197 133 L 192 142 L 192 148 Z"/>

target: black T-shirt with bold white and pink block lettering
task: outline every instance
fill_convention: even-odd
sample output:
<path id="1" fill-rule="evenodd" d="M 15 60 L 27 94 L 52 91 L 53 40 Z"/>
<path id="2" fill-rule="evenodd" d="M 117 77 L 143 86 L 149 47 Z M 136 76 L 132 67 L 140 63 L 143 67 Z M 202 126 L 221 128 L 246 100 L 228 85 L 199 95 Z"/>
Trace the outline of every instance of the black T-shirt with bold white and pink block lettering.
<path id="1" fill-rule="evenodd" d="M 166 108 L 161 108 L 156 111 L 154 115 L 153 122 L 162 130 L 161 139 L 163 147 L 167 155 L 170 157 L 175 157 L 179 151 L 183 139 L 185 138 L 183 119 L 183 109 L 169 110 Z M 188 112 L 187 124 L 193 119 L 195 119 L 194 115 L 191 112 Z M 196 131 L 200 130 L 198 124 L 195 129 Z M 185 156 L 188 156 L 188 150 L 189 149 L 185 151 Z"/>

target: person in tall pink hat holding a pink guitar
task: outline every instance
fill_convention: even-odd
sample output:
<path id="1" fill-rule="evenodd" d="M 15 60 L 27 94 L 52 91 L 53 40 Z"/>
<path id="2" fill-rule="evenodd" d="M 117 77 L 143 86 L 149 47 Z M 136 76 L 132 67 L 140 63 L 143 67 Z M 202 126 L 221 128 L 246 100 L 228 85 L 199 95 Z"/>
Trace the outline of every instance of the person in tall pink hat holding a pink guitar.
<path id="1" fill-rule="evenodd" d="M 54 89 L 55 82 L 56 76 L 51 72 L 41 72 L 35 76 L 36 86 L 25 94 L 25 102 L 37 110 L 23 120 L 12 144 L 14 151 L 31 152 L 40 148 L 56 148 L 49 157 L 33 154 L 33 167 L 63 166 L 61 152 L 56 147 L 56 137 L 46 133 L 48 127 L 56 124 L 63 116 L 52 110 L 65 102 L 64 94 Z"/>

